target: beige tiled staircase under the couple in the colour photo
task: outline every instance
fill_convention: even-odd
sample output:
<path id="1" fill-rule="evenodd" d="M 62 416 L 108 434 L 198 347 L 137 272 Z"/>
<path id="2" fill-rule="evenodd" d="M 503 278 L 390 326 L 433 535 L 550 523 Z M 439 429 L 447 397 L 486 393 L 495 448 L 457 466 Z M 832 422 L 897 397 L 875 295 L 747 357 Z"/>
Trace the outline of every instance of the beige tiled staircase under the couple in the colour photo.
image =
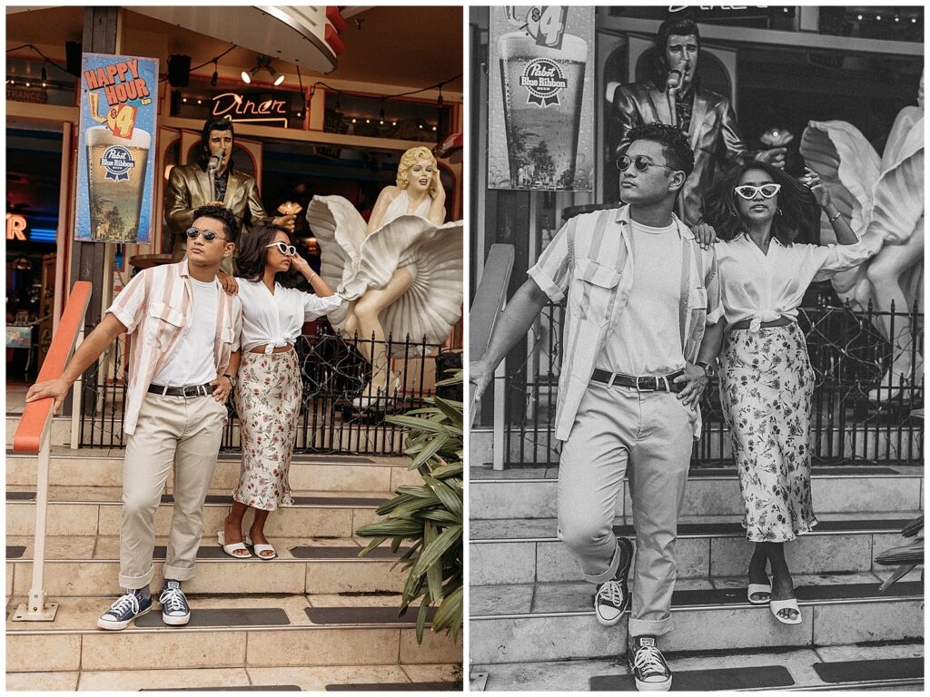
<path id="1" fill-rule="evenodd" d="M 236 456 L 220 455 L 196 577 L 184 585 L 191 623 L 163 625 L 156 603 L 122 632 L 96 625 L 120 594 L 118 449 L 53 445 L 45 588 L 60 608 L 53 623 L 10 621 L 31 585 L 35 467 L 34 457 L 7 452 L 7 690 L 454 687 L 460 638 L 427 629 L 419 645 L 416 610 L 397 616 L 404 572 L 392 570 L 390 549 L 358 558 L 367 540 L 354 531 L 379 519 L 375 508 L 396 487 L 419 480 L 405 458 L 297 456 L 296 505 L 273 513 L 266 528 L 278 559 L 240 561 L 217 544 L 239 472 Z M 162 580 L 172 483 L 155 517 L 153 588 Z"/>

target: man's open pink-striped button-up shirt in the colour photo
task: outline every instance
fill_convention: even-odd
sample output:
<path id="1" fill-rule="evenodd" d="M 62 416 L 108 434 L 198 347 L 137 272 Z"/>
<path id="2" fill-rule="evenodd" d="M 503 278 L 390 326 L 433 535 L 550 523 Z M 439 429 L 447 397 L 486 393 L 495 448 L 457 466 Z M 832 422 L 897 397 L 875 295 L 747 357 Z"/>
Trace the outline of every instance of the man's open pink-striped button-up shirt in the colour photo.
<path id="1" fill-rule="evenodd" d="M 219 281 L 217 323 L 213 358 L 217 375 L 222 375 L 230 354 L 239 349 L 242 334 L 242 302 L 223 292 Z M 177 348 L 181 332 L 193 320 L 193 291 L 187 259 L 140 271 L 126 284 L 107 309 L 126 325 L 129 335 L 129 377 L 126 385 L 126 412 L 123 430 L 136 430 L 142 400 L 152 379 Z"/>

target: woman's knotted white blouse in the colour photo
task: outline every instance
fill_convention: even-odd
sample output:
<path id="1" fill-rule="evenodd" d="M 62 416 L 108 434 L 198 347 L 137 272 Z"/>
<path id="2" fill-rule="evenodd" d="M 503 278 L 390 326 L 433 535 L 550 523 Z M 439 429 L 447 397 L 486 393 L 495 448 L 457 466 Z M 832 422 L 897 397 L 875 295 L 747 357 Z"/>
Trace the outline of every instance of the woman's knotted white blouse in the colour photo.
<path id="1" fill-rule="evenodd" d="M 261 281 L 237 278 L 242 299 L 242 349 L 248 351 L 262 344 L 266 353 L 275 347 L 293 344 L 304 322 L 311 322 L 339 308 L 338 295 L 320 297 L 297 288 L 274 283 L 274 294 Z"/>

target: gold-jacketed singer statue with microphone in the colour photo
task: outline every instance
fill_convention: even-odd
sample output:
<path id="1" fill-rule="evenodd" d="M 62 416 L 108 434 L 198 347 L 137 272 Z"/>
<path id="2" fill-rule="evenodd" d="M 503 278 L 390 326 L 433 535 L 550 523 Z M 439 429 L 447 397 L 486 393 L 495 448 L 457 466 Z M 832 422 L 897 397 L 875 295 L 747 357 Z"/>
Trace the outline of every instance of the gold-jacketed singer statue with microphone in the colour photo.
<path id="1" fill-rule="evenodd" d="M 172 261 L 184 257 L 186 232 L 193 223 L 193 210 L 201 205 L 221 205 L 235 216 L 239 229 L 244 225 L 272 223 L 294 231 L 294 216 L 271 217 L 265 213 L 255 179 L 235 169 L 233 163 L 233 122 L 209 119 L 200 136 L 200 153 L 196 164 L 172 167 L 165 187 L 165 219 L 174 235 Z M 215 157 L 222 152 L 221 157 Z M 211 166 L 211 159 L 212 165 Z M 219 166 L 217 166 L 219 165 Z M 241 246 L 241 245 L 240 245 Z M 234 256 L 224 259 L 220 269 L 232 274 Z"/>

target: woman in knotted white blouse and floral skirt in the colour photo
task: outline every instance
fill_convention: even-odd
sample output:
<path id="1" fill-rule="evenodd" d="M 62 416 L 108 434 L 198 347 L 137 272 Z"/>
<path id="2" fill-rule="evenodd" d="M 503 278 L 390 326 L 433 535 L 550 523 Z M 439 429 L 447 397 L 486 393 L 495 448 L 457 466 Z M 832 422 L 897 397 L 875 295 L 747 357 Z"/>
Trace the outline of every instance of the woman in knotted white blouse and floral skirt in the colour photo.
<path id="1" fill-rule="evenodd" d="M 287 470 L 300 414 L 303 391 L 294 341 L 304 322 L 339 306 L 339 296 L 291 245 L 287 233 L 259 227 L 245 236 L 238 260 L 241 278 L 222 279 L 242 298 L 242 362 L 235 386 L 236 411 L 242 433 L 242 473 L 233 492 L 233 509 L 219 531 L 219 545 L 231 557 L 251 557 L 243 544 L 242 519 L 255 508 L 246 544 L 259 559 L 274 559 L 265 538 L 265 521 L 279 506 L 292 506 Z M 279 283 L 297 270 L 316 295 Z M 285 279 L 286 280 L 286 279 Z"/>

